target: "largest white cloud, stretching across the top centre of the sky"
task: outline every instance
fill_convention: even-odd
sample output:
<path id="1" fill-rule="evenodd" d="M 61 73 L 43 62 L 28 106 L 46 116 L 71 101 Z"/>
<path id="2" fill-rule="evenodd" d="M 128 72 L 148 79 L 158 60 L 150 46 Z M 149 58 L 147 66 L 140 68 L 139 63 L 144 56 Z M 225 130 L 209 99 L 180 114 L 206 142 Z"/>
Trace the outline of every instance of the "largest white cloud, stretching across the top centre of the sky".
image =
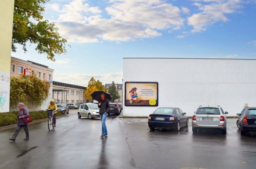
<path id="1" fill-rule="evenodd" d="M 103 18 L 99 7 L 84 0 L 47 8 L 60 13 L 52 21 L 61 35 L 79 43 L 153 38 L 162 35 L 159 30 L 176 30 L 184 24 L 181 10 L 161 0 L 110 0 L 105 8 L 110 18 Z"/>

